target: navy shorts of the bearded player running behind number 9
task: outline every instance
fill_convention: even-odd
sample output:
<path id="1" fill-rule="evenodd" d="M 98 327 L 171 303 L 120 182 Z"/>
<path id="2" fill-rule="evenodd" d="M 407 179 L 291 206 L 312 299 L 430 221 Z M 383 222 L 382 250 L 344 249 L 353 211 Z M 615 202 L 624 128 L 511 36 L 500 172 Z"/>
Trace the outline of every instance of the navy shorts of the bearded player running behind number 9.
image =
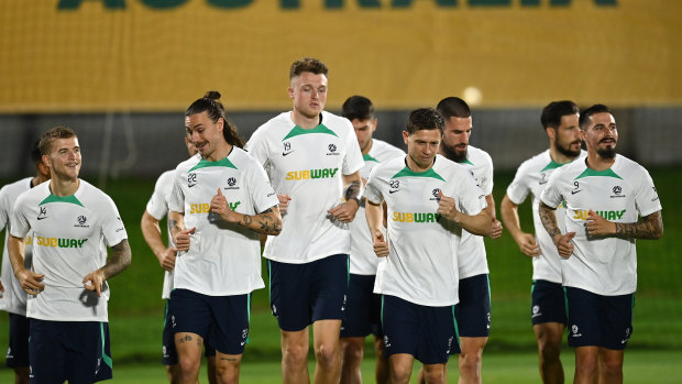
<path id="1" fill-rule="evenodd" d="M 530 296 L 530 319 L 534 326 L 544 322 L 561 322 L 565 326 L 566 300 L 561 284 L 544 279 L 534 281 Z"/>

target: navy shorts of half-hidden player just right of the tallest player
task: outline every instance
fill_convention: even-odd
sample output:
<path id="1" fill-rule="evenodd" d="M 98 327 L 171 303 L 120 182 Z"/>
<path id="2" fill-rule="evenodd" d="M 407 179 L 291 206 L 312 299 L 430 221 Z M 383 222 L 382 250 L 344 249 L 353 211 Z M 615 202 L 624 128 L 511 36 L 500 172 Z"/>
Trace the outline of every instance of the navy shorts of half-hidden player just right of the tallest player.
<path id="1" fill-rule="evenodd" d="M 342 338 L 364 338 L 373 333 L 377 338 L 382 332 L 382 296 L 374 292 L 375 275 L 351 274 L 348 286 L 345 317 L 341 323 Z"/>

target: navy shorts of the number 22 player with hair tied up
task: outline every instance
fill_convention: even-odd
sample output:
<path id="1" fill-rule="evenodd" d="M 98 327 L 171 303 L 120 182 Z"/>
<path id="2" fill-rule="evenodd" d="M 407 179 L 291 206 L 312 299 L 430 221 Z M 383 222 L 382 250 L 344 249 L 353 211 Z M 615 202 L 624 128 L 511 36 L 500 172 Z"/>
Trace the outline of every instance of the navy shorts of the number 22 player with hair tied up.
<path id="1" fill-rule="evenodd" d="M 173 289 L 169 308 L 173 333 L 196 333 L 224 354 L 244 353 L 249 342 L 251 294 L 208 296 L 189 289 Z"/>

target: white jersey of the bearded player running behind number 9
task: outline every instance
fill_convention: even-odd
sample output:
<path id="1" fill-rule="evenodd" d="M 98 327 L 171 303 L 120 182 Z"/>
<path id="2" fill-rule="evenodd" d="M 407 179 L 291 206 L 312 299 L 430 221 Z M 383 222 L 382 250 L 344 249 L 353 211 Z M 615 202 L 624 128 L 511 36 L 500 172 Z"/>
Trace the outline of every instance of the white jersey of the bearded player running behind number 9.
<path id="1" fill-rule="evenodd" d="M 586 156 L 585 151 L 581 151 L 579 160 Z M 552 283 L 561 284 L 561 256 L 559 251 L 549 238 L 549 233 L 544 230 L 540 220 L 539 207 L 540 195 L 551 174 L 564 164 L 552 161 L 549 150 L 537 154 L 521 163 L 516 171 L 514 180 L 507 187 L 507 196 L 509 200 L 516 205 L 521 205 L 528 194 L 532 195 L 532 223 L 535 228 L 536 241 L 540 245 L 540 255 L 532 257 L 532 279 L 543 279 Z M 563 204 L 557 207 L 557 217 L 562 218 L 564 215 Z M 563 220 L 558 220 L 559 228 L 563 232 Z"/>

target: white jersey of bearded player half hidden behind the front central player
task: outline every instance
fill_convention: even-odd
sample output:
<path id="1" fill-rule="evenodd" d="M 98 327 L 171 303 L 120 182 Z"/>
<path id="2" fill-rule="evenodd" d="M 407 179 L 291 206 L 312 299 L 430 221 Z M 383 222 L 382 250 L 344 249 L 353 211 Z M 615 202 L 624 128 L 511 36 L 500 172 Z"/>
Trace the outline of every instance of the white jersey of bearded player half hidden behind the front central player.
<path id="1" fill-rule="evenodd" d="M 469 145 L 466 160 L 460 164 L 469 171 L 485 196 L 493 193 L 493 160 L 487 152 Z M 462 231 L 458 257 L 460 278 L 488 273 L 483 237 Z"/>

